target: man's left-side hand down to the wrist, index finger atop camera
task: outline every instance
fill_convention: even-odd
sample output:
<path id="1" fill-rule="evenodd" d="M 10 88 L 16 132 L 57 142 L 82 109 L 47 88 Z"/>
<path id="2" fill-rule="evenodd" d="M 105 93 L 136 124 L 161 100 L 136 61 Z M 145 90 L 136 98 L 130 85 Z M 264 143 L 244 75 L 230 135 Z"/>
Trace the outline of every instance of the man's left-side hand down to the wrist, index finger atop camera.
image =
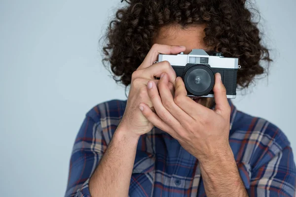
<path id="1" fill-rule="evenodd" d="M 176 72 L 169 62 L 163 61 L 156 64 L 154 62 L 157 61 L 158 54 L 178 54 L 184 51 L 185 47 L 182 46 L 154 44 L 151 47 L 143 63 L 132 74 L 126 108 L 117 130 L 120 129 L 131 136 L 139 137 L 152 129 L 152 123 L 143 116 L 139 109 L 141 102 L 146 103 L 151 108 L 153 107 L 147 92 L 148 81 L 154 80 L 157 84 L 158 80 L 155 77 L 160 78 L 162 73 L 167 73 L 170 82 L 169 87 L 173 92 L 176 80 Z"/>

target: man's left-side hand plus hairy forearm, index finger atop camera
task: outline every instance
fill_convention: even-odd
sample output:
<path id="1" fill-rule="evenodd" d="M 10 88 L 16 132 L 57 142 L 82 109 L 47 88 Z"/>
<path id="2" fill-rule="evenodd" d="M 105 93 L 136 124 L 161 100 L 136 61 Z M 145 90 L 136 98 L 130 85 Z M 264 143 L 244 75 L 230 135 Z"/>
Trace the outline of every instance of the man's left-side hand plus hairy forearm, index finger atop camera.
<path id="1" fill-rule="evenodd" d="M 141 102 L 147 103 L 149 110 L 153 106 L 148 96 L 148 81 L 157 84 L 159 80 L 155 80 L 154 77 L 160 77 L 161 73 L 166 72 L 170 76 L 167 78 L 169 91 L 173 91 L 176 81 L 176 72 L 168 62 L 157 64 L 154 62 L 159 53 L 178 54 L 183 51 L 185 47 L 154 44 L 143 63 L 132 74 L 122 120 L 89 180 L 89 191 L 92 197 L 128 197 L 139 137 L 153 127 L 139 109 Z"/>

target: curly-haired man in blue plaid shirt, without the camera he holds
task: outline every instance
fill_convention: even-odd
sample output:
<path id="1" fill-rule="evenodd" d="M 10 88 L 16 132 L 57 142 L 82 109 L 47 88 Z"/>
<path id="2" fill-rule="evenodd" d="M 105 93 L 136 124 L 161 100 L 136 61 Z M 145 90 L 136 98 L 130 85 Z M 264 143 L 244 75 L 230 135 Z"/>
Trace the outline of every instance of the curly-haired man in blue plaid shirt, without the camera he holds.
<path id="1" fill-rule="evenodd" d="M 221 75 L 214 96 L 190 99 L 158 54 L 219 51 L 239 58 L 246 88 L 271 61 L 243 0 L 131 0 L 107 33 L 105 61 L 128 99 L 91 109 L 77 134 L 66 196 L 295 196 L 290 142 L 238 111 Z M 156 78 L 160 78 L 157 80 Z"/>

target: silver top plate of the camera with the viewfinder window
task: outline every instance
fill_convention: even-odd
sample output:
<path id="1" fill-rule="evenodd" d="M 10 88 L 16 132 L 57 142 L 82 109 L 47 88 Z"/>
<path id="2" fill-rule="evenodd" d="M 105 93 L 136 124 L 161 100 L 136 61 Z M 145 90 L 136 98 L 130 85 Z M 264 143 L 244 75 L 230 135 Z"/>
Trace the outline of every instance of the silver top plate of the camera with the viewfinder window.
<path id="1" fill-rule="evenodd" d="M 186 64 L 207 64 L 216 68 L 240 68 L 238 58 L 210 56 L 203 49 L 193 49 L 188 55 L 183 52 L 177 55 L 158 55 L 158 61 L 168 61 L 172 66 L 186 66 Z"/>

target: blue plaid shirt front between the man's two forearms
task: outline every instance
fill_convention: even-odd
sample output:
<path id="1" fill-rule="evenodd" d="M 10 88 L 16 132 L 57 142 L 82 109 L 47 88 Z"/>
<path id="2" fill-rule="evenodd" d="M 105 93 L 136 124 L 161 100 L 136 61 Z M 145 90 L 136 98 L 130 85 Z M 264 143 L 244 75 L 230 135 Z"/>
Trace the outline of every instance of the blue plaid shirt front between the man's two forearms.
<path id="1" fill-rule="evenodd" d="M 130 197 L 196 197 L 199 190 L 204 193 L 196 158 L 177 141 L 165 142 L 165 138 L 156 140 L 151 153 L 147 149 L 137 151 Z"/>

